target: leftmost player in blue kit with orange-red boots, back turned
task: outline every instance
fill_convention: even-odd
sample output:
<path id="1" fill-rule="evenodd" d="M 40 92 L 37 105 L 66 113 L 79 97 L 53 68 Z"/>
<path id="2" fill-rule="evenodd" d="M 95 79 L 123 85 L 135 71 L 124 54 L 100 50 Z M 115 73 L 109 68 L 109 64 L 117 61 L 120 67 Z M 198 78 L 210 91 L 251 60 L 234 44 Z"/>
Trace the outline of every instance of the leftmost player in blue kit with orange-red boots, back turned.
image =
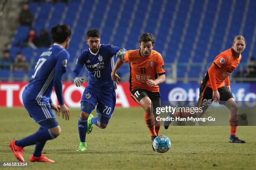
<path id="1" fill-rule="evenodd" d="M 54 115 L 53 110 L 58 115 L 69 120 L 69 109 L 65 105 L 62 96 L 61 77 L 67 70 L 67 61 L 71 30 L 68 25 L 56 25 L 51 28 L 51 37 L 54 44 L 48 50 L 43 52 L 36 64 L 35 71 L 29 84 L 22 94 L 23 105 L 28 110 L 29 115 L 40 125 L 39 130 L 21 140 L 13 140 L 9 147 L 13 150 L 14 155 L 21 162 L 23 158 L 23 148 L 29 145 L 36 145 L 31 162 L 50 162 L 54 160 L 46 158 L 42 150 L 47 140 L 56 138 L 61 133 L 61 128 Z M 53 87 L 60 106 L 51 101 L 51 92 Z"/>

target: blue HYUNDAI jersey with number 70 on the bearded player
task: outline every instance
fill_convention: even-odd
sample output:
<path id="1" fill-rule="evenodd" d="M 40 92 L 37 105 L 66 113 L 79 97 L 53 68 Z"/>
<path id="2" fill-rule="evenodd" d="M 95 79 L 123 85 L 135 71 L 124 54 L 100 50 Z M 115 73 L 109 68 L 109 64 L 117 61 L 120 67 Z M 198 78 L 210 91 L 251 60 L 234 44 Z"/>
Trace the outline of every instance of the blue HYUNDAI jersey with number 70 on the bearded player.
<path id="1" fill-rule="evenodd" d="M 100 44 L 96 54 L 90 51 L 90 48 L 83 50 L 77 57 L 77 62 L 72 73 L 72 77 L 78 77 L 83 65 L 86 66 L 89 74 L 87 87 L 95 90 L 114 90 L 116 82 L 111 78 L 111 72 L 114 68 L 113 56 L 121 49 L 114 45 Z"/>

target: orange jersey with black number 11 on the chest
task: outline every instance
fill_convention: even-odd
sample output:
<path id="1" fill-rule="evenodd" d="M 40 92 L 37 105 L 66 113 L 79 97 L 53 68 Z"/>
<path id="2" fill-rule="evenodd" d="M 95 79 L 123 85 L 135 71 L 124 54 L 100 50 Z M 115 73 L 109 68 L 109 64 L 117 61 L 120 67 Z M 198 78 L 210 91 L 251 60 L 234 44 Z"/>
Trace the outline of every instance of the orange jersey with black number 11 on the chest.
<path id="1" fill-rule="evenodd" d="M 155 50 L 151 55 L 143 57 L 140 50 L 128 50 L 125 52 L 123 62 L 130 62 L 130 90 L 141 88 L 151 92 L 159 92 L 159 86 L 148 87 L 147 79 L 156 80 L 157 74 L 165 73 L 164 60 L 161 54 Z"/>

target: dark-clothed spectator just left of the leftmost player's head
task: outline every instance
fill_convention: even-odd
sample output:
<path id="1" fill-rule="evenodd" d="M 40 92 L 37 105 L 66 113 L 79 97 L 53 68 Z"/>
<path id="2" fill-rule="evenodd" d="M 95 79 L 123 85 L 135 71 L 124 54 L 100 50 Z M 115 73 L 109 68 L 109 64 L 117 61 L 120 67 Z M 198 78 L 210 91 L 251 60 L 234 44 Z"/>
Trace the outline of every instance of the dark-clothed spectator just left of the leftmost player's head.
<path id="1" fill-rule="evenodd" d="M 34 40 L 34 44 L 37 47 L 49 47 L 51 45 L 51 37 L 49 33 L 45 29 L 42 29 L 40 35 Z"/>

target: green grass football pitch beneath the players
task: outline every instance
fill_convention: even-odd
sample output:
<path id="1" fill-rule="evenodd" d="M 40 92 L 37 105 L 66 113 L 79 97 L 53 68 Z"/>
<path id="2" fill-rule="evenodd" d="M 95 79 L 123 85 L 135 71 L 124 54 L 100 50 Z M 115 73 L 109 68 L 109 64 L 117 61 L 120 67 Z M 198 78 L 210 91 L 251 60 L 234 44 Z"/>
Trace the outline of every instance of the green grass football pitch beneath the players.
<path id="1" fill-rule="evenodd" d="M 58 117 L 61 135 L 46 143 L 43 153 L 55 163 L 30 163 L 34 146 L 25 148 L 24 169 L 255 169 L 256 127 L 238 127 L 238 137 L 246 144 L 228 143 L 229 126 L 161 127 L 172 147 L 167 153 L 151 148 L 150 133 L 141 108 L 116 108 L 106 129 L 94 127 L 87 134 L 87 151 L 75 151 L 79 146 L 77 120 L 79 109 L 70 109 L 71 119 Z M 228 113 L 225 113 L 228 116 Z M 96 115 L 95 111 L 93 115 Z M 0 162 L 17 162 L 8 144 L 34 133 L 38 125 L 23 107 L 0 107 Z M 2 167 L 3 168 L 3 167 Z M 9 168 L 4 168 L 9 169 Z M 17 168 L 13 168 L 17 170 Z"/>

